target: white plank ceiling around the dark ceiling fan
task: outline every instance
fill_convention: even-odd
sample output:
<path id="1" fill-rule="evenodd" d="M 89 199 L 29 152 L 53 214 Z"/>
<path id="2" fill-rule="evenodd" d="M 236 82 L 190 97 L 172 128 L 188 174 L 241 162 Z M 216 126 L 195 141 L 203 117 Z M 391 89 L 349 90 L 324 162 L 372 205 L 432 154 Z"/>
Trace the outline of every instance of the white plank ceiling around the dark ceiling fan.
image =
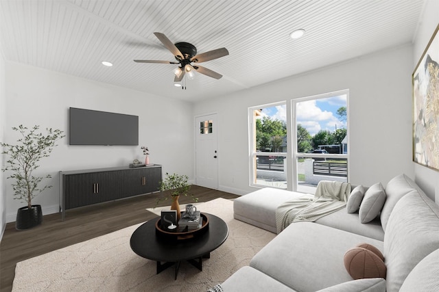
<path id="1" fill-rule="evenodd" d="M 428 0 L 425 0 L 428 1 Z M 436 1 L 436 0 L 435 0 Z M 222 96 L 413 42 L 424 0 L 0 0 L 0 49 L 19 62 L 185 101 Z M 294 29 L 306 34 L 292 40 Z M 187 90 L 154 36 L 230 55 Z M 112 67 L 101 64 L 110 61 Z"/>

